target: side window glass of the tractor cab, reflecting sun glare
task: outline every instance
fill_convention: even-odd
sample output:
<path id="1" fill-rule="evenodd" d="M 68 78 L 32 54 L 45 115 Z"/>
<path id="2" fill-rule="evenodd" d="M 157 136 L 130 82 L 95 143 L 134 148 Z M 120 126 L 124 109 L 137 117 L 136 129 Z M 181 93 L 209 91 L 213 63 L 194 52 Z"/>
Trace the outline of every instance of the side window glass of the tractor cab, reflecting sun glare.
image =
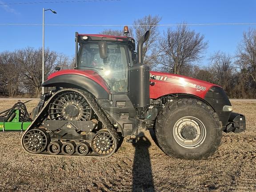
<path id="1" fill-rule="evenodd" d="M 108 83 L 112 92 L 127 92 L 128 61 L 125 45 L 107 43 L 108 56 L 100 58 L 98 42 L 82 44 L 79 51 L 78 68 L 96 70 Z"/>

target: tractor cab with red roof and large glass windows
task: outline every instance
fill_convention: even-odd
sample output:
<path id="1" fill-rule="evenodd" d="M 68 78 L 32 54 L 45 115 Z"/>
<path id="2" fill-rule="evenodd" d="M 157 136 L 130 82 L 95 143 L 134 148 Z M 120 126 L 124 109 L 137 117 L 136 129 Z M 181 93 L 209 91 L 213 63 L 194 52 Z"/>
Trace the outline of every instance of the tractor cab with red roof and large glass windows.
<path id="1" fill-rule="evenodd" d="M 128 92 L 128 69 L 136 63 L 133 38 L 76 33 L 76 42 L 77 69 L 96 71 L 110 92 Z"/>

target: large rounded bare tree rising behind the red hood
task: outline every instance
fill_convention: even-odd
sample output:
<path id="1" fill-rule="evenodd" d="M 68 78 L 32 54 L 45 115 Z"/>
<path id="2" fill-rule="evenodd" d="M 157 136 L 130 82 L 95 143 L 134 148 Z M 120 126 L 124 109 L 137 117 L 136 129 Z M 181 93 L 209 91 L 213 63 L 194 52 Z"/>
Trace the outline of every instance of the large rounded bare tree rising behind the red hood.
<path id="1" fill-rule="evenodd" d="M 182 74 L 181 70 L 200 60 L 208 48 L 204 36 L 189 30 L 186 25 L 179 25 L 175 30 L 168 28 L 158 44 L 155 57 L 158 68 L 174 74 Z"/>

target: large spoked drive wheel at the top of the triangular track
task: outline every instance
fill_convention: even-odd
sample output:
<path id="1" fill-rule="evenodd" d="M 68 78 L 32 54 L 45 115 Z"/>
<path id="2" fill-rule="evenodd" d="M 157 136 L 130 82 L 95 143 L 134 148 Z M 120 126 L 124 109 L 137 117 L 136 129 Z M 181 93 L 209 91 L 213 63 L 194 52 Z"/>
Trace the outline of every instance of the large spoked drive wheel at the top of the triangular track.
<path id="1" fill-rule="evenodd" d="M 78 92 L 61 92 L 50 104 L 51 120 L 90 120 L 92 109 Z"/>

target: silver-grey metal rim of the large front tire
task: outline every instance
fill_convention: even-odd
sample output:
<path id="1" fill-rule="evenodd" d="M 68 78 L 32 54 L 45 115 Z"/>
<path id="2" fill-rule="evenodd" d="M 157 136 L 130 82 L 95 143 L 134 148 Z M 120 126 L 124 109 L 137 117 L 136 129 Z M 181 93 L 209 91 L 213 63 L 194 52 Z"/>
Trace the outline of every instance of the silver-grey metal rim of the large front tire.
<path id="1" fill-rule="evenodd" d="M 184 148 L 197 148 L 204 143 L 206 128 L 201 120 L 185 116 L 176 121 L 173 128 L 176 142 Z"/>

